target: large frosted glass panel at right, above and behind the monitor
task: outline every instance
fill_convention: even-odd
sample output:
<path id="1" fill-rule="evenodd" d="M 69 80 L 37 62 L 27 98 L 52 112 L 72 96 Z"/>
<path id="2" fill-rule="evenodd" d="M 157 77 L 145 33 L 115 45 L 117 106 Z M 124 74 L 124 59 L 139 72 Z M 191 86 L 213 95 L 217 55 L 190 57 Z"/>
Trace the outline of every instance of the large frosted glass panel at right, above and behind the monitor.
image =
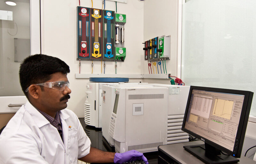
<path id="1" fill-rule="evenodd" d="M 256 96 L 256 1 L 182 5 L 181 78 L 186 85 L 249 90 Z M 251 115 L 256 115 L 253 98 Z"/>

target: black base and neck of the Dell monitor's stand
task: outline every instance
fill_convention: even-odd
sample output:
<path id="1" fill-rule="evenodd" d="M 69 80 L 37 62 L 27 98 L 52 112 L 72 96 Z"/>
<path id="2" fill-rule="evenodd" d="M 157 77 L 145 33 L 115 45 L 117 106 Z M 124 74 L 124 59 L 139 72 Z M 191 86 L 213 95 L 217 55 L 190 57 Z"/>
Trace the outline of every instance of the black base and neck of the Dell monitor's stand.
<path id="1" fill-rule="evenodd" d="M 238 159 L 231 155 L 221 154 L 220 150 L 207 143 L 183 147 L 206 164 L 231 164 L 239 162 Z"/>

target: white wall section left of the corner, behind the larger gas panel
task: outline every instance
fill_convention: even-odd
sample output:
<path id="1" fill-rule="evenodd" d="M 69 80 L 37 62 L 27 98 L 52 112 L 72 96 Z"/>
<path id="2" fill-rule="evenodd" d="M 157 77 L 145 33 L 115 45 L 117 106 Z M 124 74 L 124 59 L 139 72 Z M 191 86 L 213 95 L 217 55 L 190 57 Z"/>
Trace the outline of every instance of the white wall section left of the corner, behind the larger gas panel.
<path id="1" fill-rule="evenodd" d="M 78 117 L 84 117 L 85 83 L 88 79 L 76 79 L 79 73 L 79 61 L 76 61 L 76 7 L 75 0 L 41 0 L 42 53 L 58 57 L 70 67 L 68 80 L 72 93 L 68 108 Z M 91 1 L 81 1 L 81 6 L 92 7 Z M 93 8 L 101 9 L 102 0 L 93 0 Z M 116 3 L 106 1 L 105 9 L 116 12 Z M 117 63 L 117 74 L 141 74 L 143 52 L 144 4 L 138 0 L 128 0 L 127 4 L 117 3 L 117 13 L 126 14 L 124 63 Z M 92 73 L 91 61 L 81 61 L 81 74 Z M 103 65 L 103 63 L 102 63 Z M 102 66 L 103 68 L 103 66 Z M 103 71 L 104 72 L 104 71 Z M 93 73 L 100 74 L 100 61 L 93 62 Z M 106 62 L 105 74 L 115 74 L 115 63 Z M 139 82 L 141 79 L 130 79 Z"/>

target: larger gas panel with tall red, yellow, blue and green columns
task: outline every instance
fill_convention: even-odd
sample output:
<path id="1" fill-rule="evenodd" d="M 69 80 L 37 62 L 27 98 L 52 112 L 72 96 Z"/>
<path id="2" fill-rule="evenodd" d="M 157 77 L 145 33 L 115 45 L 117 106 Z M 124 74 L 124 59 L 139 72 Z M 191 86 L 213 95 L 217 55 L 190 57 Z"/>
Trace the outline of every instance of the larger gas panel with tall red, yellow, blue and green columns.
<path id="1" fill-rule="evenodd" d="M 77 7 L 77 60 L 124 61 L 125 14 Z"/>

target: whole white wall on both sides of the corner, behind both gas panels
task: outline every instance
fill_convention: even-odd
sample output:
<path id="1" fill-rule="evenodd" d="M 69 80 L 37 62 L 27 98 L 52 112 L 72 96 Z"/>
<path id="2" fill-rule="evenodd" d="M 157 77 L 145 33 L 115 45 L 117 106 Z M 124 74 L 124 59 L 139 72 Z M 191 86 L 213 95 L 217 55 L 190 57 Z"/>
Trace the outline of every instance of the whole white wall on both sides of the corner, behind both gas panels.
<path id="1" fill-rule="evenodd" d="M 88 79 L 75 78 L 75 74 L 79 73 L 79 62 L 76 61 L 76 7 L 78 5 L 78 1 L 70 0 L 41 1 L 42 53 L 58 57 L 70 66 L 68 79 L 72 93 L 68 108 L 78 117 L 84 117 L 84 86 Z M 91 1 L 81 1 L 80 5 L 92 7 Z M 93 8 L 101 9 L 101 7 L 101 0 L 93 0 Z M 115 2 L 106 1 L 105 9 L 116 12 Z M 148 62 L 144 61 L 142 42 L 156 36 L 171 35 L 171 60 L 166 61 L 166 66 L 168 73 L 177 76 L 177 11 L 178 0 L 147 0 L 145 2 L 128 0 L 127 4 L 117 3 L 117 13 L 124 13 L 127 16 L 125 24 L 127 56 L 124 63 L 117 63 L 117 74 L 148 74 Z M 92 73 L 91 63 L 81 61 L 82 74 Z M 100 61 L 93 62 L 93 73 L 101 73 Z M 105 74 L 115 74 L 115 63 L 106 62 Z M 130 82 L 139 81 L 170 83 L 169 80 L 130 79 Z"/>

